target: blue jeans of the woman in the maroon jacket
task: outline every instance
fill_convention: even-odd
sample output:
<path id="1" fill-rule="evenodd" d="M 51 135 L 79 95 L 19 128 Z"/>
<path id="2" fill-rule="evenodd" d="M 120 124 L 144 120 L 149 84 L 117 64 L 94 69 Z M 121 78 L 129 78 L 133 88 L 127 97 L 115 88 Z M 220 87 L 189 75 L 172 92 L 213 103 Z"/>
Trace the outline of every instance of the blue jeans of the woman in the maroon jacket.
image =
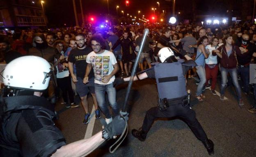
<path id="1" fill-rule="evenodd" d="M 224 93 L 225 93 L 225 87 L 226 87 L 226 83 L 227 83 L 227 76 L 228 76 L 228 73 L 229 73 L 231 78 L 232 78 L 232 82 L 235 86 L 235 91 L 236 91 L 236 94 L 238 95 L 238 99 L 241 99 L 242 98 L 241 88 L 240 88 L 240 85 L 238 83 L 238 71 L 237 71 L 237 69 L 236 68 L 226 69 L 226 68 L 221 67 L 220 68 L 220 73 L 221 73 L 221 76 L 222 76 L 222 84 L 221 84 L 221 87 L 220 87 L 220 94 L 224 95 Z"/>

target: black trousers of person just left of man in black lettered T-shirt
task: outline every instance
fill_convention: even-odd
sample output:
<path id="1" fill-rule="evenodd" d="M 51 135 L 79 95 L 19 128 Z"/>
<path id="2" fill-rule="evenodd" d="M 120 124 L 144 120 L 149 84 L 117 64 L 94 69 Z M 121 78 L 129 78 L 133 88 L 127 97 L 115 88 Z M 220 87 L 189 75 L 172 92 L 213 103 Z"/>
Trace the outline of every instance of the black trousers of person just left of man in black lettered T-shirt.
<path id="1" fill-rule="evenodd" d="M 57 78 L 57 84 L 59 88 L 62 90 L 62 96 L 64 102 L 68 103 L 68 94 L 70 103 L 74 102 L 74 93 L 71 86 L 71 77 Z"/>

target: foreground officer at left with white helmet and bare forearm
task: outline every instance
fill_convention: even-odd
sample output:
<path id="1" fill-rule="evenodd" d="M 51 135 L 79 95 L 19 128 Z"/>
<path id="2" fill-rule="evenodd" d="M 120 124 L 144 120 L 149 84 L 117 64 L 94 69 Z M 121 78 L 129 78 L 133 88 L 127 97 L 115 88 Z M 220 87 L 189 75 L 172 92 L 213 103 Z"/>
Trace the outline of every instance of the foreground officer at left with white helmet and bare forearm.
<path id="1" fill-rule="evenodd" d="M 53 105 L 41 97 L 49 84 L 50 67 L 37 56 L 19 57 L 7 64 L 3 74 L 7 97 L 1 97 L 0 104 L 0 157 L 82 157 L 123 132 L 127 117 L 115 117 L 102 132 L 66 145 L 52 120 Z"/>

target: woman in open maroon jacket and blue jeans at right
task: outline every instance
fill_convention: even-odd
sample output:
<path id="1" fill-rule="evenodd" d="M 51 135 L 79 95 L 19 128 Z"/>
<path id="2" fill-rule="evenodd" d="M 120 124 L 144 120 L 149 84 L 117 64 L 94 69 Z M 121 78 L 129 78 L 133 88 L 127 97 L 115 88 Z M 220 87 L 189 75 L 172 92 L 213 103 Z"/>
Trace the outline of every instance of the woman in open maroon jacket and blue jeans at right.
<path id="1" fill-rule="evenodd" d="M 226 35 L 224 37 L 224 45 L 220 46 L 216 52 L 221 53 L 221 59 L 220 59 L 220 72 L 222 77 L 222 84 L 220 88 L 220 100 L 224 101 L 224 93 L 225 93 L 225 86 L 227 83 L 227 76 L 228 73 L 230 74 L 232 78 L 232 82 L 235 86 L 235 91 L 238 95 L 238 105 L 240 107 L 244 106 L 244 103 L 242 101 L 242 95 L 241 95 L 241 88 L 238 83 L 238 71 L 237 71 L 237 58 L 236 53 L 240 53 L 240 49 L 238 46 L 233 45 L 233 37 L 232 35 Z"/>

